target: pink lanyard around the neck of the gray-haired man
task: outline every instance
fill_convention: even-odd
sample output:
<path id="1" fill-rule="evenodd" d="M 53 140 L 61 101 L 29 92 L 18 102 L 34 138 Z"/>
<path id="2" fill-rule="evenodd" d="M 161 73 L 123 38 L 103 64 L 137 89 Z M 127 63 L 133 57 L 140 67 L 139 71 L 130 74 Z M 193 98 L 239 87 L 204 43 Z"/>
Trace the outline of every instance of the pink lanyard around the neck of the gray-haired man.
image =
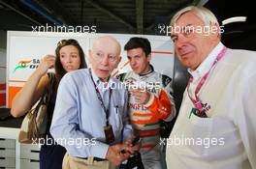
<path id="1" fill-rule="evenodd" d="M 216 64 L 220 61 L 220 59 L 224 56 L 225 52 L 227 50 L 227 47 L 224 46 L 221 51 L 219 52 L 217 58 L 215 59 L 215 61 L 213 62 L 213 64 L 211 65 L 210 69 L 208 70 L 208 72 L 201 78 L 198 86 L 196 87 L 196 90 L 195 90 L 195 97 L 196 99 L 193 99 L 190 95 L 189 95 L 189 86 L 190 86 L 190 83 L 192 83 L 193 81 L 193 76 L 191 76 L 189 78 L 189 81 L 188 81 L 188 84 L 187 84 L 187 94 L 188 94 L 188 97 L 189 99 L 191 99 L 191 101 L 193 102 L 194 106 L 200 111 L 202 112 L 203 110 L 203 103 L 202 103 L 202 100 L 199 98 L 198 96 L 198 93 L 199 91 L 201 90 L 202 86 L 205 84 L 207 78 L 208 78 L 208 74 L 211 70 L 213 70 L 216 66 Z"/>

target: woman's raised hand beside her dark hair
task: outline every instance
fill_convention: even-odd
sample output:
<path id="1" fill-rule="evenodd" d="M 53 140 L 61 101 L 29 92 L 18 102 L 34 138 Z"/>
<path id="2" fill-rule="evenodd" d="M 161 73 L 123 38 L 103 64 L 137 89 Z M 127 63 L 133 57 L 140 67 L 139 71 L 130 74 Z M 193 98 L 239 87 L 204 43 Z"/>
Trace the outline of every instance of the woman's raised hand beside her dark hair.
<path id="1" fill-rule="evenodd" d="M 43 76 L 47 73 L 48 69 L 51 69 L 54 67 L 55 63 L 55 56 L 54 55 L 47 55 L 45 56 L 39 64 L 39 67 L 37 69 L 38 73 Z"/>

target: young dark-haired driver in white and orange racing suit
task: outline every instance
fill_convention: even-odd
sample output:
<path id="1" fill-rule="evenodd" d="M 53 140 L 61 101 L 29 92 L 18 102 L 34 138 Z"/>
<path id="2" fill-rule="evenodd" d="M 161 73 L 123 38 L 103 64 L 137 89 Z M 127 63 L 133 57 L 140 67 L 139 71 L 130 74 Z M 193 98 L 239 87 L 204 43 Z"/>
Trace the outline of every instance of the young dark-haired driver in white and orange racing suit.
<path id="1" fill-rule="evenodd" d="M 144 38 L 132 38 L 124 46 L 132 71 L 117 75 L 129 91 L 129 115 L 135 135 L 140 135 L 145 169 L 165 168 L 160 123 L 176 116 L 171 96 L 172 79 L 154 71 L 150 65 L 151 46 Z"/>

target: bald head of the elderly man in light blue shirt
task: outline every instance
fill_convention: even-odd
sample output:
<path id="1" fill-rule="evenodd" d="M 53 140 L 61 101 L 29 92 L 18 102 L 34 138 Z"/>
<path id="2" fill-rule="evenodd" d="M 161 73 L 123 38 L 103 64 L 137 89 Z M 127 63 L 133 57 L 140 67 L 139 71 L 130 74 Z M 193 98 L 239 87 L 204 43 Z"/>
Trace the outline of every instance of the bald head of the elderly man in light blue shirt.
<path id="1" fill-rule="evenodd" d="M 109 78 L 121 60 L 120 52 L 120 43 L 111 36 L 99 37 L 93 42 L 89 62 L 99 78 L 104 81 Z"/>

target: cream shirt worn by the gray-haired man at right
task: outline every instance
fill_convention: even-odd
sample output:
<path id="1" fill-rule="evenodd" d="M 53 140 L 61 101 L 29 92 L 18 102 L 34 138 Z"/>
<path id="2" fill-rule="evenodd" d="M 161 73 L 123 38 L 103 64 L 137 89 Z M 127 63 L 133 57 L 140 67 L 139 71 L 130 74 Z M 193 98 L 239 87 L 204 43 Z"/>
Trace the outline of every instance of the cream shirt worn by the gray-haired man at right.
<path id="1" fill-rule="evenodd" d="M 209 70 L 220 42 L 197 70 L 189 93 Z M 169 169 L 256 169 L 256 52 L 228 49 L 199 92 L 208 118 L 190 114 L 187 91 L 167 140 Z"/>

